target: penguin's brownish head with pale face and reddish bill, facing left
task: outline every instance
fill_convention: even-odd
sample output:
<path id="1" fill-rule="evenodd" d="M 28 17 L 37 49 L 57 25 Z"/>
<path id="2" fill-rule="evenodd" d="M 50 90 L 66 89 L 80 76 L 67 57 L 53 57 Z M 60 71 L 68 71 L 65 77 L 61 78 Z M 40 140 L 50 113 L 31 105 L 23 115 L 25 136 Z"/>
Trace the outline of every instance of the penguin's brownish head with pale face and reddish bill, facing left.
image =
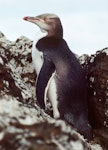
<path id="1" fill-rule="evenodd" d="M 63 37 L 63 28 L 59 17 L 55 14 L 41 14 L 35 17 L 26 16 L 26 21 L 36 24 L 41 32 L 47 32 L 47 36 Z"/>

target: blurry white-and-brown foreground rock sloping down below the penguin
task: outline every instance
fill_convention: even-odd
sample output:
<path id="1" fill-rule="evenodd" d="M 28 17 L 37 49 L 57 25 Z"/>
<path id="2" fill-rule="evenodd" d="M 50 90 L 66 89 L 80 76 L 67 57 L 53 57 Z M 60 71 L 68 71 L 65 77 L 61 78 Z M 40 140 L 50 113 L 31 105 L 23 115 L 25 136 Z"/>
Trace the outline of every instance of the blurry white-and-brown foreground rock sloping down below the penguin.
<path id="1" fill-rule="evenodd" d="M 15 98 L 0 100 L 0 149 L 6 150 L 80 150 L 87 146 L 83 138 L 63 122 L 37 108 L 22 105 Z M 13 138 L 14 137 L 14 138 Z"/>

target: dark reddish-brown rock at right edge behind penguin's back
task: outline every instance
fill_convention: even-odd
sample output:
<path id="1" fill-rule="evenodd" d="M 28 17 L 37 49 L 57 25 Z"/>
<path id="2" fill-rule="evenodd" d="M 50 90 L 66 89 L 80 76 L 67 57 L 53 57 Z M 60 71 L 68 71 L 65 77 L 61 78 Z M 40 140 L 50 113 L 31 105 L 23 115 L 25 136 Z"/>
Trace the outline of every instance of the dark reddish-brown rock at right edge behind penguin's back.
<path id="1" fill-rule="evenodd" d="M 108 149 L 108 48 L 86 57 L 89 115 L 95 136 Z"/>

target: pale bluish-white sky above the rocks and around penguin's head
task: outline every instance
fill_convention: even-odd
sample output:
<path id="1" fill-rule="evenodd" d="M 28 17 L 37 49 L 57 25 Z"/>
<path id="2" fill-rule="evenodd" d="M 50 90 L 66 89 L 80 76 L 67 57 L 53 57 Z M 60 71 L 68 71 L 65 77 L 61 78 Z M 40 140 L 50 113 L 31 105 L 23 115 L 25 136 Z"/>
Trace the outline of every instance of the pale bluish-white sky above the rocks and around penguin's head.
<path id="1" fill-rule="evenodd" d="M 0 31 L 11 41 L 33 40 L 39 28 L 22 18 L 43 13 L 60 17 L 74 53 L 91 55 L 108 47 L 108 0 L 0 0 Z"/>

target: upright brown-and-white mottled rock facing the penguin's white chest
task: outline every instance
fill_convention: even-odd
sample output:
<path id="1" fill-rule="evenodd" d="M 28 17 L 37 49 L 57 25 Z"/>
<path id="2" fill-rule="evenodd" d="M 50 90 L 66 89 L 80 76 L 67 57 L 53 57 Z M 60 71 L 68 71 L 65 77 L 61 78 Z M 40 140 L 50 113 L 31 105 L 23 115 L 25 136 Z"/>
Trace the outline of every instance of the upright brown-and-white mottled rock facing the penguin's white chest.
<path id="1" fill-rule="evenodd" d="M 15 42 L 4 40 L 0 44 L 0 95 L 10 93 L 19 101 L 27 103 L 30 103 L 31 97 L 35 99 L 31 47 L 32 42 L 25 37 Z"/>

